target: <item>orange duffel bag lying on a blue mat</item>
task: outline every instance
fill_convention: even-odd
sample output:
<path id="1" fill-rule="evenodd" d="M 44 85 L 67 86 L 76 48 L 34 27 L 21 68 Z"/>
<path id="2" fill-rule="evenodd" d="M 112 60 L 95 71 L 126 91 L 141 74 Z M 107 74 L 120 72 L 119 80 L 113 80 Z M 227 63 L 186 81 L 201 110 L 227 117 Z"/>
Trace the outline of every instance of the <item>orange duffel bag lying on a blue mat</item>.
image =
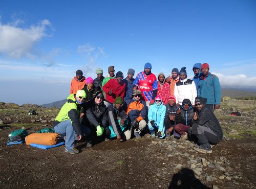
<path id="1" fill-rule="evenodd" d="M 32 133 L 26 136 L 25 141 L 27 145 L 56 145 L 59 136 L 58 133 Z"/>

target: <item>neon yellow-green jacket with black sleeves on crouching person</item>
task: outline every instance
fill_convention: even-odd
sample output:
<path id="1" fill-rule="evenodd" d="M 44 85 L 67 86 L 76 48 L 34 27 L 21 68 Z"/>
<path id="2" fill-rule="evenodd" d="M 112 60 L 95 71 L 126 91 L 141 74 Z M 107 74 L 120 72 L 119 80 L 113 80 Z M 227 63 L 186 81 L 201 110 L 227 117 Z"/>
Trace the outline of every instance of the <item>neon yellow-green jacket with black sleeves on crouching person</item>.
<path id="1" fill-rule="evenodd" d="M 62 106 L 57 117 L 55 118 L 54 125 L 69 119 L 76 134 L 82 135 L 81 124 L 79 121 L 81 106 L 76 102 L 74 94 L 69 95 L 67 100 L 68 101 Z"/>

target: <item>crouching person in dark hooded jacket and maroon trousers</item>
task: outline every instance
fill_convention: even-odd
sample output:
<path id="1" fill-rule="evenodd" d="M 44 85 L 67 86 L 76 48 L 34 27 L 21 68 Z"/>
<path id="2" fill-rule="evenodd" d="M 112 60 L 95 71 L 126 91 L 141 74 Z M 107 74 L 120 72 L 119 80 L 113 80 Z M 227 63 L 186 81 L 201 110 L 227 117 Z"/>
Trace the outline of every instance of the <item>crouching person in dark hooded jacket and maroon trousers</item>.
<path id="1" fill-rule="evenodd" d="M 184 99 L 182 101 L 182 106 L 179 106 L 175 121 L 176 125 L 174 127 L 176 133 L 181 135 L 182 140 L 187 139 L 187 130 L 193 125 L 194 109 L 189 99 Z"/>

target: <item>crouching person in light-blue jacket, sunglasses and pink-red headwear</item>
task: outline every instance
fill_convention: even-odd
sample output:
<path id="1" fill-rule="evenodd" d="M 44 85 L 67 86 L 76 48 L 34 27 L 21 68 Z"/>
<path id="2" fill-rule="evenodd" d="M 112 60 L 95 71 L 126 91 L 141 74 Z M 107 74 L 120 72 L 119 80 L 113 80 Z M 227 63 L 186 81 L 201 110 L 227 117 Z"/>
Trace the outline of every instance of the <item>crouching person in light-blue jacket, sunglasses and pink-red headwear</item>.
<path id="1" fill-rule="evenodd" d="M 164 116 L 166 112 L 166 107 L 163 105 L 162 98 L 157 96 L 155 102 L 150 106 L 148 110 L 148 129 L 150 130 L 151 137 L 157 136 L 162 139 L 165 137 L 165 128 L 164 128 Z"/>

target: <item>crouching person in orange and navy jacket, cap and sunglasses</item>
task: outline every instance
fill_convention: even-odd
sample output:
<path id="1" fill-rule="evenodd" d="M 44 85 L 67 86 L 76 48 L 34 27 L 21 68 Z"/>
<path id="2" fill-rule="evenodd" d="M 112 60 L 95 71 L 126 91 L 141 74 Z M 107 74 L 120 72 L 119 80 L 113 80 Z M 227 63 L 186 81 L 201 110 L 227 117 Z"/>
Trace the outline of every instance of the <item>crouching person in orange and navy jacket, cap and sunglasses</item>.
<path id="1" fill-rule="evenodd" d="M 146 102 L 143 101 L 140 90 L 134 90 L 132 99 L 126 101 L 128 104 L 128 108 L 126 113 L 129 116 L 129 120 L 131 123 L 130 137 L 132 134 L 132 130 L 134 129 L 134 135 L 136 138 L 141 138 L 140 132 L 146 127 L 146 121 L 144 120 L 146 117 Z"/>

